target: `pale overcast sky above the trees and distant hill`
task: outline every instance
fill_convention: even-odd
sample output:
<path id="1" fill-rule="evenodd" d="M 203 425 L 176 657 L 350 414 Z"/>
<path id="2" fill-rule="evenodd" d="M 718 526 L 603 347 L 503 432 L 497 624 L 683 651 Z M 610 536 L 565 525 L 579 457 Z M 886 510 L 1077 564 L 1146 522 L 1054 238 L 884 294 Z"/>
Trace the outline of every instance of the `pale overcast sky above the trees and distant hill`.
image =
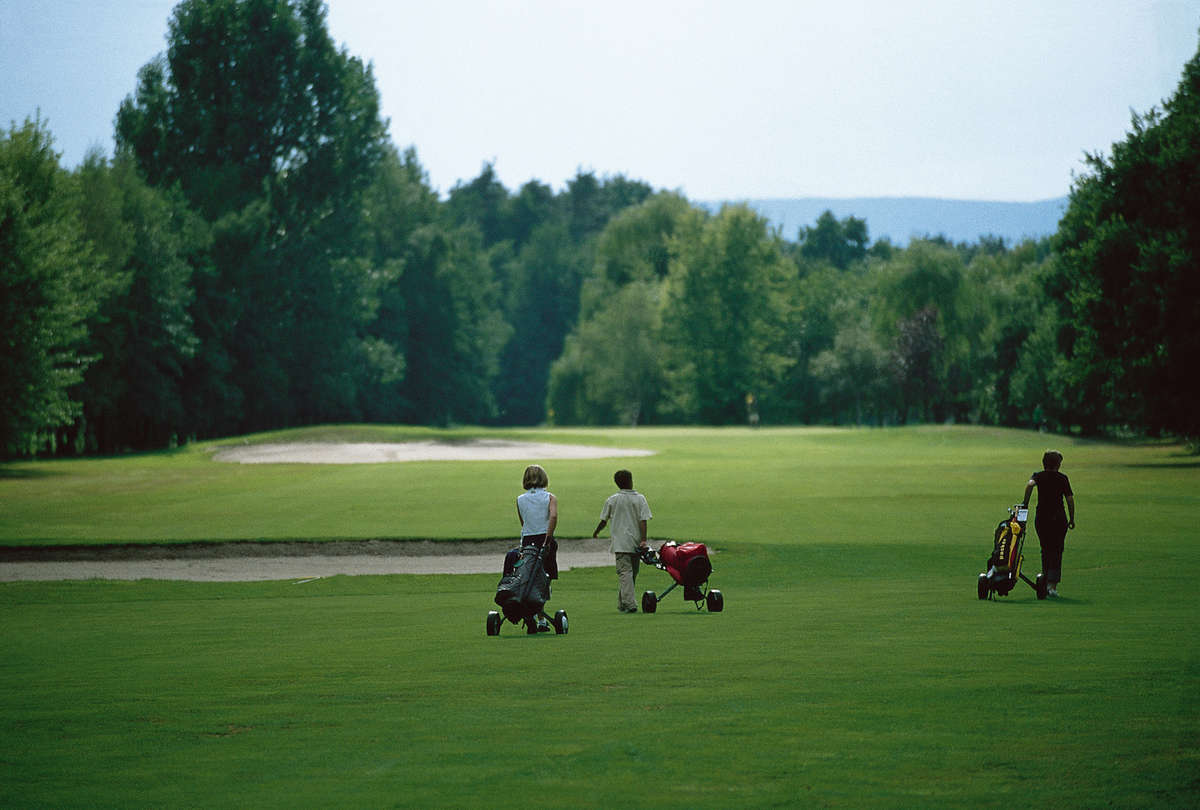
<path id="1" fill-rule="evenodd" d="M 0 124 L 112 152 L 176 0 L 0 0 Z M 1195 55 L 1200 0 L 329 0 L 443 194 L 578 169 L 692 200 L 1068 193 Z"/>

